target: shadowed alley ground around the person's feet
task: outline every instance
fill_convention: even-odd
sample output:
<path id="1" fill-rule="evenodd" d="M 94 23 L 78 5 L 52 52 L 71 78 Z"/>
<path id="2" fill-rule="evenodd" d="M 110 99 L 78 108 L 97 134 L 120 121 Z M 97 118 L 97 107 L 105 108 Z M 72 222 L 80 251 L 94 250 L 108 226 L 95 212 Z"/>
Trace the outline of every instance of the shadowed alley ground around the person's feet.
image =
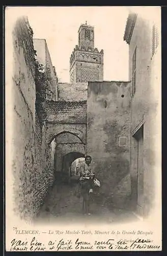
<path id="1" fill-rule="evenodd" d="M 55 184 L 49 191 L 44 205 L 41 207 L 37 221 L 70 221 L 76 223 L 80 220 L 91 222 L 131 222 L 137 221 L 136 216 L 130 210 L 113 208 L 92 201 L 90 216 L 82 214 L 82 199 L 76 197 L 76 186 L 69 184 Z"/>

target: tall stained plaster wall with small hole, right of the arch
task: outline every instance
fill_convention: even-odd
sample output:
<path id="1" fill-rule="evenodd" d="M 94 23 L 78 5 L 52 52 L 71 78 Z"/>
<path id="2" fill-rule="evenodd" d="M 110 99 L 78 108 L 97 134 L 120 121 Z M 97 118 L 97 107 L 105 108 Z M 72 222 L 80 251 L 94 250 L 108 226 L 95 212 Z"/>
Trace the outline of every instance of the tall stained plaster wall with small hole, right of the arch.
<path id="1" fill-rule="evenodd" d="M 119 197 L 130 166 L 130 88 L 127 82 L 89 82 L 87 100 L 88 155 L 101 181 L 104 198 Z M 122 198 L 129 195 L 129 188 Z M 117 200 L 115 200 L 117 201 Z"/>

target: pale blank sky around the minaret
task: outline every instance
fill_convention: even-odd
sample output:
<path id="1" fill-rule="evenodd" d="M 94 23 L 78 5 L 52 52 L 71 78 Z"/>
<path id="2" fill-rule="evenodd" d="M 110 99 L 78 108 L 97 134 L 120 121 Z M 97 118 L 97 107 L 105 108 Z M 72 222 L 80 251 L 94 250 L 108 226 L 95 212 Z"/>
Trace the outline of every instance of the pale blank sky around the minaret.
<path id="1" fill-rule="evenodd" d="M 104 50 L 104 80 L 129 80 L 129 48 L 123 40 L 129 7 L 8 7 L 8 10 L 13 16 L 14 13 L 27 16 L 34 38 L 46 39 L 61 82 L 70 81 L 70 55 L 78 44 L 78 28 L 86 20 L 94 26 L 95 47 Z"/>

